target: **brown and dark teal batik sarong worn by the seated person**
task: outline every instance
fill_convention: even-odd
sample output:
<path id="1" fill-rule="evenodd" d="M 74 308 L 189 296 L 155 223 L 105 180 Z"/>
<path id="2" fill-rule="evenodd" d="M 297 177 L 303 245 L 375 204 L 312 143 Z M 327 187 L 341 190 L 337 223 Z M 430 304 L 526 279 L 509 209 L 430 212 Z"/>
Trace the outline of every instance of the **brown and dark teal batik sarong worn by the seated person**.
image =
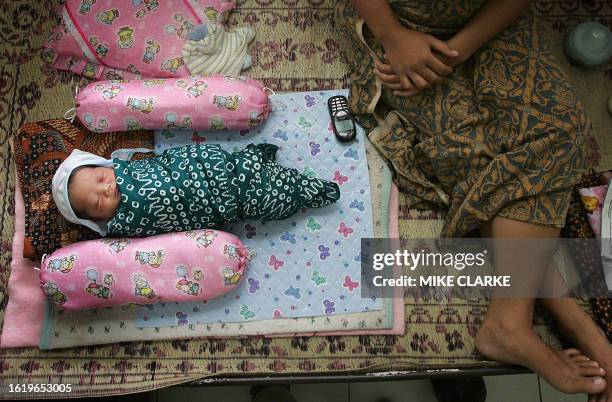
<path id="1" fill-rule="evenodd" d="M 484 1 L 389 4 L 405 27 L 448 40 Z M 443 237 L 495 216 L 563 226 L 588 125 L 531 15 L 412 97 L 394 96 L 373 74 L 385 51 L 350 1 L 338 3 L 336 18 L 352 55 L 350 108 L 410 204 L 447 211 Z"/>

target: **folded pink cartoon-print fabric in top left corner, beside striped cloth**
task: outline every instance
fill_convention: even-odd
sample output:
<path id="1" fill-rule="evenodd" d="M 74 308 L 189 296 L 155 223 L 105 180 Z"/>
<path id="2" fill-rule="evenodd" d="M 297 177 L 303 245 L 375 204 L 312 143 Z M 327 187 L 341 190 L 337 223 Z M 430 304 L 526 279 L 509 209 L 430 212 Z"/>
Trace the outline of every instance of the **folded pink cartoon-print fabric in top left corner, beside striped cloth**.
<path id="1" fill-rule="evenodd" d="M 187 32 L 223 22 L 234 7 L 233 0 L 67 0 L 43 59 L 92 79 L 187 76 Z"/>

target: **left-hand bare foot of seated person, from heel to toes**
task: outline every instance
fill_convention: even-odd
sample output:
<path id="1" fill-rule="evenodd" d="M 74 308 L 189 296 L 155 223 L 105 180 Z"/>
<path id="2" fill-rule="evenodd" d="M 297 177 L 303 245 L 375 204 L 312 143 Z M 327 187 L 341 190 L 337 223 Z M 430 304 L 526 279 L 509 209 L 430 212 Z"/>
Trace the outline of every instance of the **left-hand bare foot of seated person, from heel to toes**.
<path id="1" fill-rule="evenodd" d="M 490 359 L 519 364 L 533 370 L 561 392 L 598 394 L 606 381 L 596 367 L 585 367 L 573 351 L 559 353 L 549 348 L 531 328 L 508 328 L 487 319 L 476 334 L 476 348 Z M 593 370 L 595 369 L 595 370 Z M 597 371 L 595 375 L 592 373 Z"/>

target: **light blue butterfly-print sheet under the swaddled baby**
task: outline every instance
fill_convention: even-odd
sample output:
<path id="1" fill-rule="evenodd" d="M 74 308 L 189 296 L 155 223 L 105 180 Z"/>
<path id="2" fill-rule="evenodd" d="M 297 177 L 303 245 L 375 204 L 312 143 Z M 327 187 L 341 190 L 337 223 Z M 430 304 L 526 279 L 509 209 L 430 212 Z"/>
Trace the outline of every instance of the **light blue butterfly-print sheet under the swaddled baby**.
<path id="1" fill-rule="evenodd" d="M 266 123 L 244 136 L 238 132 L 194 134 L 185 130 L 165 130 L 166 136 L 160 131 L 155 133 L 156 151 L 160 152 L 191 143 L 192 137 L 206 137 L 207 143 L 220 143 L 228 151 L 233 147 L 242 149 L 248 143 L 278 145 L 279 164 L 307 177 L 333 180 L 340 186 L 341 197 L 325 210 L 305 210 L 284 221 L 226 225 L 223 230 L 236 234 L 245 246 L 257 252 L 243 284 L 236 292 L 205 305 L 200 302 L 186 307 L 180 303 L 162 308 L 158 303 L 151 310 L 139 308 L 141 315 L 146 313 L 148 317 L 145 322 L 139 315 L 139 325 L 177 326 L 175 313 L 179 308 L 189 313 L 185 326 L 329 316 L 382 308 L 381 299 L 361 298 L 360 292 L 365 286 L 360 279 L 360 239 L 375 237 L 372 224 L 368 224 L 372 222 L 372 200 L 365 144 L 359 141 L 338 146 L 327 111 L 327 99 L 335 94 L 338 91 L 276 95 L 287 108 L 272 113 Z M 347 325 L 354 328 L 356 323 Z"/>

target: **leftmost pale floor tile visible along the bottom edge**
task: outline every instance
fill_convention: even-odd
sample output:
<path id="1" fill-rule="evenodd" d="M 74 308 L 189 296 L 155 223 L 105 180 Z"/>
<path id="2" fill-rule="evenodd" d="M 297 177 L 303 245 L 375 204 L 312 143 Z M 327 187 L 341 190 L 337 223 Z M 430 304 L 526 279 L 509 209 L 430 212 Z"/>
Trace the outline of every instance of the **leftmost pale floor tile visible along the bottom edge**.
<path id="1" fill-rule="evenodd" d="M 248 386 L 171 387 L 157 391 L 157 402 L 251 402 Z"/>

